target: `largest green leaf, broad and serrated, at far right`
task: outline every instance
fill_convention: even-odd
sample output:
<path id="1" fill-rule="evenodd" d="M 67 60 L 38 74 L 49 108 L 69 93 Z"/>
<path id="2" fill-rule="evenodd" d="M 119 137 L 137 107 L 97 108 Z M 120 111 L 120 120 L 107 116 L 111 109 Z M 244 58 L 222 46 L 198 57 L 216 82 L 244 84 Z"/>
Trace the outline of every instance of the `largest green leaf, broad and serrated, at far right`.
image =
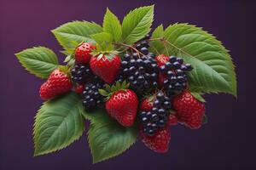
<path id="1" fill-rule="evenodd" d="M 203 93 L 236 96 L 236 73 L 228 50 L 207 31 L 188 24 L 175 24 L 165 31 L 169 54 L 193 65 L 189 85 L 202 87 Z"/>

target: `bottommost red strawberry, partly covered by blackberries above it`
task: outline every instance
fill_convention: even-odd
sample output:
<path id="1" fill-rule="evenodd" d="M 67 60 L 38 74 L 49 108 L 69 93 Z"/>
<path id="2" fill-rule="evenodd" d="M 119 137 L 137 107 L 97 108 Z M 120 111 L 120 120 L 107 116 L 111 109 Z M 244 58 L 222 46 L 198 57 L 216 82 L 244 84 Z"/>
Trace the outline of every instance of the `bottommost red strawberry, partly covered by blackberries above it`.
<path id="1" fill-rule="evenodd" d="M 170 127 L 160 128 L 154 136 L 148 136 L 140 130 L 140 137 L 143 143 L 150 149 L 158 153 L 165 153 L 169 150 L 171 140 Z"/>

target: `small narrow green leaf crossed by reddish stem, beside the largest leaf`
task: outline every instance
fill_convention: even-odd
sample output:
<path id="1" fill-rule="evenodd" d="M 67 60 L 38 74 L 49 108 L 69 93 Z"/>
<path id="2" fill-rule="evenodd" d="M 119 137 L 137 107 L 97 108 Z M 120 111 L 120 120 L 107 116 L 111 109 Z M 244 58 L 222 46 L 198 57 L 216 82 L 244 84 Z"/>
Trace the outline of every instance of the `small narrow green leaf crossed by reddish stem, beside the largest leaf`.
<path id="1" fill-rule="evenodd" d="M 164 37 L 164 32 L 164 26 L 160 25 L 153 31 L 151 38 L 162 38 Z M 165 50 L 164 43 L 160 41 L 151 41 L 149 50 L 154 51 L 157 54 L 160 54 L 160 52 Z"/>

